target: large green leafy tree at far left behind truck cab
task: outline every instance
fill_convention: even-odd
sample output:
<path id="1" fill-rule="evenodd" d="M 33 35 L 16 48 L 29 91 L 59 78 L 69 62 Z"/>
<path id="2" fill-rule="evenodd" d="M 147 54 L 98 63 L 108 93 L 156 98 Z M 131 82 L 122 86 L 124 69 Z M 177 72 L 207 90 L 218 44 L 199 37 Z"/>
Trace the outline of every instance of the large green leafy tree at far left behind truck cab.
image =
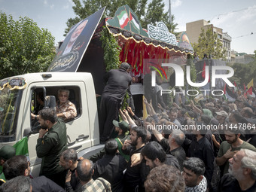
<path id="1" fill-rule="evenodd" d="M 28 17 L 14 21 L 0 11 L 0 79 L 45 72 L 55 56 L 54 37 Z"/>

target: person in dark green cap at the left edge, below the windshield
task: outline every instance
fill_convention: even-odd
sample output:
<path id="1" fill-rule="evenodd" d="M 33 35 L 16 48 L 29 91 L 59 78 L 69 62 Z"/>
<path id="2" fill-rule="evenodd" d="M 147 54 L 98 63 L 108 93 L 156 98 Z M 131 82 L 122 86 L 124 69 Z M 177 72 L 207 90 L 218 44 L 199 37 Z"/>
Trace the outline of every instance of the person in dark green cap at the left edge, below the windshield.
<path id="1" fill-rule="evenodd" d="M 11 145 L 5 145 L 0 149 L 0 166 L 3 166 L 5 161 L 11 159 L 11 157 L 14 157 L 16 155 L 16 150 Z M 0 170 L 0 183 L 5 182 L 5 174 Z"/>

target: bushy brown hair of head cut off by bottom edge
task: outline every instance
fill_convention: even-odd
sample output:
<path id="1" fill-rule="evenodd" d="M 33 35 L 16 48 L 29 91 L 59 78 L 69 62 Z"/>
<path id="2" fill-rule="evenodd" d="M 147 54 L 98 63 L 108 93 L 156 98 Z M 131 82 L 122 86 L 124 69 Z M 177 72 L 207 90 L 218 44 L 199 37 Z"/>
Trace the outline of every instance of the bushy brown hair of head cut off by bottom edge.
<path id="1" fill-rule="evenodd" d="M 185 190 L 184 178 L 181 172 L 173 166 L 156 166 L 149 172 L 145 181 L 145 190 L 148 192 Z"/>

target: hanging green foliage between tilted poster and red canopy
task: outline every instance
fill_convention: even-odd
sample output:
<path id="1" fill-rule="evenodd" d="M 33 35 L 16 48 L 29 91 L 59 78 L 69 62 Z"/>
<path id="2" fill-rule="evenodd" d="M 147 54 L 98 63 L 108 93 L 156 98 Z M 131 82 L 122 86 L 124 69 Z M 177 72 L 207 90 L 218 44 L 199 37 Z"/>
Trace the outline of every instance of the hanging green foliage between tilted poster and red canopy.
<path id="1" fill-rule="evenodd" d="M 105 71 L 108 72 L 110 69 L 118 69 L 120 66 L 119 55 L 121 48 L 105 26 L 103 26 L 100 40 L 102 41 L 102 48 L 104 50 Z"/>

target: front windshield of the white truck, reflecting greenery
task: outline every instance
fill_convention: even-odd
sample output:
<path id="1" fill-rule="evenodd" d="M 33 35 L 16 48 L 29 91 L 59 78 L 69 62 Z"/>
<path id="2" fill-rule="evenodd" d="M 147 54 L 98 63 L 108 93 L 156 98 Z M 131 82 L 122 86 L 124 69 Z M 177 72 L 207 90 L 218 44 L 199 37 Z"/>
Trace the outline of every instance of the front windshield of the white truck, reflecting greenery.
<path id="1" fill-rule="evenodd" d="M 23 90 L 5 87 L 0 90 L 0 142 L 15 140 L 17 114 Z"/>

